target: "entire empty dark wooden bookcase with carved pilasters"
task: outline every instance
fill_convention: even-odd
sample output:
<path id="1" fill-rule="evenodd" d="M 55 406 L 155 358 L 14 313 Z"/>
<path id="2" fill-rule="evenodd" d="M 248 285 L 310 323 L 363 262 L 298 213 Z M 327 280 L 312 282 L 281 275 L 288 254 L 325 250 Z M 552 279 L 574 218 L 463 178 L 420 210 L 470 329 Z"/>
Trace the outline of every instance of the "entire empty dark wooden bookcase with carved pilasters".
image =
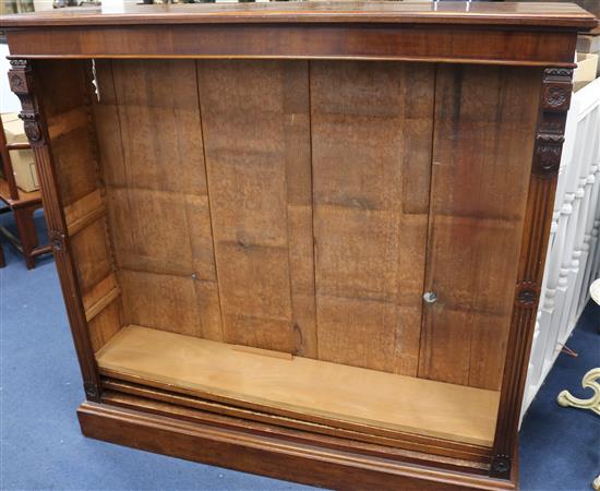
<path id="1" fill-rule="evenodd" d="M 310 2 L 2 23 L 84 434 L 333 488 L 515 489 L 591 15 Z"/>

